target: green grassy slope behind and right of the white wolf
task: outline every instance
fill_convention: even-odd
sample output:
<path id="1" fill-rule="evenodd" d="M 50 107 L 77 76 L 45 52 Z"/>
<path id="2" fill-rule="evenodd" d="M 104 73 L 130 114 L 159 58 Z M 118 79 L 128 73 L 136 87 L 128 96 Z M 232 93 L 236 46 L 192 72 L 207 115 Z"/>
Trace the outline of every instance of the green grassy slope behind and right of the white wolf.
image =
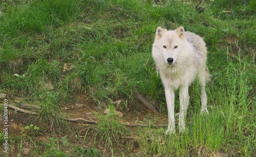
<path id="1" fill-rule="evenodd" d="M 188 133 L 165 137 L 164 145 L 147 143 L 145 138 L 141 150 L 144 155 L 252 155 L 256 153 L 255 5 L 252 0 L 170 1 L 157 7 L 153 1 L 2 2 L 0 92 L 37 101 L 45 115 L 85 90 L 103 101 L 119 97 L 130 101 L 142 92 L 164 103 L 151 47 L 158 26 L 182 25 L 204 37 L 208 47 L 210 115 L 198 115 L 200 91 L 194 84 L 189 92 L 190 104 L 195 105 L 188 112 L 194 125 L 188 126 Z M 65 63 L 69 70 L 63 71 Z M 45 86 L 49 82 L 54 90 Z M 138 130 L 142 137 L 145 132 Z M 151 132 L 162 136 L 164 130 L 148 128 Z"/>

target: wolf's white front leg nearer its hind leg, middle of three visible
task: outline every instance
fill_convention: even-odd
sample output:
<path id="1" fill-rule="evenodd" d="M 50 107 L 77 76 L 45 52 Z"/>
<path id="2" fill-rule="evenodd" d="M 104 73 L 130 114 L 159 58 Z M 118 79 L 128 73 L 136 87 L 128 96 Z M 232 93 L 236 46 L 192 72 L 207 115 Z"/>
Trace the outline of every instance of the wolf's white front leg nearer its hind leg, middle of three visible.
<path id="1" fill-rule="evenodd" d="M 182 133 L 186 129 L 185 118 L 187 115 L 188 104 L 189 104 L 188 86 L 185 85 L 180 89 L 179 129 L 180 129 L 180 132 Z"/>

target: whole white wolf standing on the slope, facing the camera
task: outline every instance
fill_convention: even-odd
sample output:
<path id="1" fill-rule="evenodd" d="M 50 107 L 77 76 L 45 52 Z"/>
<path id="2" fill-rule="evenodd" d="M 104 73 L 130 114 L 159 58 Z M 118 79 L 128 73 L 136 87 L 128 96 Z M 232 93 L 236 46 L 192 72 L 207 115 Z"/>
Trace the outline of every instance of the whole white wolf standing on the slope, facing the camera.
<path id="1" fill-rule="evenodd" d="M 183 27 L 175 31 L 167 31 L 158 27 L 153 43 L 152 56 L 165 87 L 168 108 L 166 134 L 175 133 L 175 89 L 180 90 L 179 130 L 184 132 L 189 103 L 188 86 L 196 79 L 196 76 L 201 87 L 201 114 L 204 112 L 208 114 L 205 83 L 209 81 L 209 71 L 206 66 L 207 49 L 205 43 L 200 36 L 185 32 Z"/>

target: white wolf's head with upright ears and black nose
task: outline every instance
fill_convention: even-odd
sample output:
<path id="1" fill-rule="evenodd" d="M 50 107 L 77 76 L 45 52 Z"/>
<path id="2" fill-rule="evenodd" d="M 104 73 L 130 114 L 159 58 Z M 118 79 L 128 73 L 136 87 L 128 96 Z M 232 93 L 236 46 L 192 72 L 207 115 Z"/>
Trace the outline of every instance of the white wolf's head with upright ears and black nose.
<path id="1" fill-rule="evenodd" d="M 183 27 L 175 31 L 167 31 L 161 27 L 157 28 L 153 45 L 157 46 L 166 64 L 175 64 L 184 44 L 185 30 Z"/>

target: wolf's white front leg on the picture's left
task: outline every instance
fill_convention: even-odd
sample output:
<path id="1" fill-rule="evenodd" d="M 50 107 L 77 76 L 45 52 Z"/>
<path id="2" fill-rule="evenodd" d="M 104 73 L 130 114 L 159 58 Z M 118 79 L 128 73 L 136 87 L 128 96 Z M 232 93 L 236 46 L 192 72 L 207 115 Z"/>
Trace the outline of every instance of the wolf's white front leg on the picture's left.
<path id="1" fill-rule="evenodd" d="M 166 135 L 175 134 L 175 119 L 174 119 L 174 89 L 165 87 L 165 98 L 168 109 L 168 129 Z"/>

